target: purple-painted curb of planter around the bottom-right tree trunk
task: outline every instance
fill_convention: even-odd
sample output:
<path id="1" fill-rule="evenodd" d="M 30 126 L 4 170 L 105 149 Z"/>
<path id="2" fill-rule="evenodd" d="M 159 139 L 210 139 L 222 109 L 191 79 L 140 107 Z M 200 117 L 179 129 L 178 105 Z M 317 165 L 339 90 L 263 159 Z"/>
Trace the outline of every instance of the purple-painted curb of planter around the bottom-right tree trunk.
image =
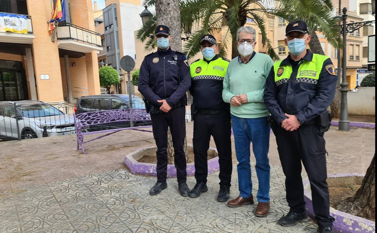
<path id="1" fill-rule="evenodd" d="M 328 177 L 346 177 L 346 176 L 364 176 L 357 173 L 347 173 L 347 174 L 334 174 Z M 311 200 L 311 191 L 307 188 L 310 187 L 308 179 L 303 181 L 304 185 L 304 197 L 306 201 L 306 208 L 308 210 L 309 216 L 314 219 L 313 202 Z M 336 210 L 330 207 L 330 215 L 335 218 L 334 222 L 334 232 L 342 233 L 375 233 L 375 222 L 370 221 L 365 218 L 360 218 L 342 211 Z"/>

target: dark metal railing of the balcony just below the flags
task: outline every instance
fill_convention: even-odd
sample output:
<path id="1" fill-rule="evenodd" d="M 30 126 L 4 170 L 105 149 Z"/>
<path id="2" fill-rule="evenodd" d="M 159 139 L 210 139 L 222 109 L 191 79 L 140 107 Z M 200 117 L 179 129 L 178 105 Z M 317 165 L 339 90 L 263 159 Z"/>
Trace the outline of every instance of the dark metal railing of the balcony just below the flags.
<path id="1" fill-rule="evenodd" d="M 72 23 L 58 24 L 57 39 L 75 40 L 102 48 L 100 34 L 85 28 L 81 28 L 80 26 Z"/>

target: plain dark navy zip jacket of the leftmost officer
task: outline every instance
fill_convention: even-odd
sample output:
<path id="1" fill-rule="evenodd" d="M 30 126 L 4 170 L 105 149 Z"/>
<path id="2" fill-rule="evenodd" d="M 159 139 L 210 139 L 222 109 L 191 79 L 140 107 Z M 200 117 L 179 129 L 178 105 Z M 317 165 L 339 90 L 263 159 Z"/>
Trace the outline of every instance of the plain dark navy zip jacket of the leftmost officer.
<path id="1" fill-rule="evenodd" d="M 153 105 L 161 106 L 162 103 L 157 100 L 166 99 L 173 107 L 189 90 L 190 85 L 190 66 L 185 54 L 169 48 L 158 49 L 144 57 L 140 67 L 138 90 Z"/>

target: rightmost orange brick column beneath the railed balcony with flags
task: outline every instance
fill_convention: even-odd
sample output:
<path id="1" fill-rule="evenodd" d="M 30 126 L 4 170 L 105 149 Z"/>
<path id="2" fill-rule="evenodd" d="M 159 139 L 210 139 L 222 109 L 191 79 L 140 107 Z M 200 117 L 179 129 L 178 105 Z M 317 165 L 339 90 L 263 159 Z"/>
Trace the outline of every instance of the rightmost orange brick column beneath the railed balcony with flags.
<path id="1" fill-rule="evenodd" d="M 101 94 L 100 74 L 98 73 L 97 51 L 85 54 L 88 95 Z"/>

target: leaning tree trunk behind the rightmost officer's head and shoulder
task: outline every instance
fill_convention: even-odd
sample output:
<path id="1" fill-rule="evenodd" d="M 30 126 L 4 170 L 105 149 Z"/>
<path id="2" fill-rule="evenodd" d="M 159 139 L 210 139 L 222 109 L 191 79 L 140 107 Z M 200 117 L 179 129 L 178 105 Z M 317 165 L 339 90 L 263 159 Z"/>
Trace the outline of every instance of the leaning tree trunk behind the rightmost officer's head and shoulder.
<path id="1" fill-rule="evenodd" d="M 323 52 L 321 43 L 319 42 L 319 39 L 317 37 L 316 31 L 314 31 L 313 29 L 309 29 L 309 35 L 311 37 L 310 42 L 309 42 L 310 50 L 313 53 L 325 55 L 325 52 Z M 338 67 L 339 67 L 339 65 L 338 65 Z M 339 70 L 340 69 L 338 69 L 338 72 L 339 72 Z M 337 91 L 335 92 L 335 98 L 334 98 L 333 103 L 331 103 L 330 108 L 331 108 L 331 114 L 333 114 L 333 117 L 339 118 L 339 115 L 340 115 L 340 97 L 342 97 L 342 95 L 340 93 L 339 79 L 336 82 L 336 86 L 337 86 Z"/>

